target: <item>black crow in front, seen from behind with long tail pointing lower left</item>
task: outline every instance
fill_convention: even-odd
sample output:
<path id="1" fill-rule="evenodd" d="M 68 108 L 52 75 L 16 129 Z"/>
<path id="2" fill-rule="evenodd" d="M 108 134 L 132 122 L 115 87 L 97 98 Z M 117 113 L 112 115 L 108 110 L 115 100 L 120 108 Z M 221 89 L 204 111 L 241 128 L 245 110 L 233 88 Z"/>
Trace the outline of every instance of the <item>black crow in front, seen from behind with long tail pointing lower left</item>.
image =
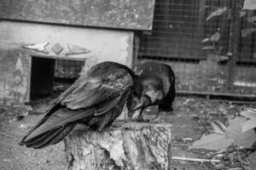
<path id="1" fill-rule="evenodd" d="M 133 72 L 125 65 L 102 62 L 93 66 L 67 88 L 21 139 L 20 145 L 34 149 L 57 144 L 78 123 L 102 132 L 120 115 L 131 94 Z"/>

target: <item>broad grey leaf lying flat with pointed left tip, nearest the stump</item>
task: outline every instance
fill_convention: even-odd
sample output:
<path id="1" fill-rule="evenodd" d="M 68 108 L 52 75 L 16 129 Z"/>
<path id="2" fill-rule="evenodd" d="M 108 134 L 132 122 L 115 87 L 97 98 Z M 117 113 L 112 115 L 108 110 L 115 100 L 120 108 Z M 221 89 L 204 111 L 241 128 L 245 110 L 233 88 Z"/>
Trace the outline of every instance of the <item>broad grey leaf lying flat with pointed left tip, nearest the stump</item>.
<path id="1" fill-rule="evenodd" d="M 212 133 L 196 140 L 189 149 L 223 150 L 233 143 L 233 139 L 225 134 Z"/>

